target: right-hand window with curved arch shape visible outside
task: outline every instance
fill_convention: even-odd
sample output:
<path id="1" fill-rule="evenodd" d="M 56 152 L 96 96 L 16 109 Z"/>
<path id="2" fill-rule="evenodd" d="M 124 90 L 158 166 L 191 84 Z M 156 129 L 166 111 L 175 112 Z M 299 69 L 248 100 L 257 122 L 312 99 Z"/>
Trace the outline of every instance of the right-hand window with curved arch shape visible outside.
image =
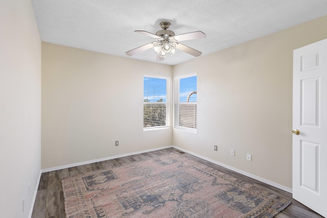
<path id="1" fill-rule="evenodd" d="M 196 132 L 197 76 L 175 79 L 175 122 L 177 129 Z"/>

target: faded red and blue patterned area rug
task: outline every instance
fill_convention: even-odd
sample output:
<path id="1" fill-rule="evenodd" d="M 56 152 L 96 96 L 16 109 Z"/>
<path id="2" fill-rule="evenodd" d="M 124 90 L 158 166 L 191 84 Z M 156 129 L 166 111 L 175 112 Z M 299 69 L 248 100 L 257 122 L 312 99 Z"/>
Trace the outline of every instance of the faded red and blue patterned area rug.
<path id="1" fill-rule="evenodd" d="M 62 179 L 75 217 L 273 217 L 291 202 L 169 154 Z"/>

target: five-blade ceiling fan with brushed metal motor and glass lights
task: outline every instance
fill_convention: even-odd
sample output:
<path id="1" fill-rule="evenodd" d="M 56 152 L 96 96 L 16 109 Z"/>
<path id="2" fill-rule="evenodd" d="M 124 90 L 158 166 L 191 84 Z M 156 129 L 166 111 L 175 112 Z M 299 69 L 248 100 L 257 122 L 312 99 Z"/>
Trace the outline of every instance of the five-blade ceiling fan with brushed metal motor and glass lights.
<path id="1" fill-rule="evenodd" d="M 153 49 L 153 51 L 157 54 L 156 61 L 164 60 L 167 53 L 173 55 L 177 50 L 193 55 L 194 57 L 199 57 L 202 52 L 192 49 L 192 47 L 183 45 L 180 43 L 180 41 L 205 38 L 205 34 L 201 31 L 196 31 L 175 35 L 173 31 L 168 30 L 170 25 L 170 22 L 160 22 L 160 27 L 162 30 L 159 30 L 155 34 L 149 33 L 147 31 L 135 30 L 136 33 L 141 33 L 155 38 L 155 41 L 128 51 L 126 52 L 126 55 L 132 56 L 148 49 Z"/>

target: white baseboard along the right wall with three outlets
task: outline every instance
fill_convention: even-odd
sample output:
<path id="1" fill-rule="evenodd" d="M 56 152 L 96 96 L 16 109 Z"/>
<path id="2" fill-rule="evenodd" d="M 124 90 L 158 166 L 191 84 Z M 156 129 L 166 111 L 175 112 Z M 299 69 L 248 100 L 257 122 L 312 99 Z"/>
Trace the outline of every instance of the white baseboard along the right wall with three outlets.
<path id="1" fill-rule="evenodd" d="M 178 150 L 181 150 L 181 151 L 183 151 L 183 152 L 185 152 L 185 153 L 188 153 L 188 154 L 194 155 L 194 156 L 199 157 L 199 158 L 201 158 L 201 159 L 203 159 L 203 160 L 206 160 L 206 161 L 209 161 L 209 162 L 215 163 L 215 164 L 217 164 L 217 165 L 223 166 L 223 167 L 225 167 L 225 168 L 227 168 L 227 169 L 230 169 L 231 171 L 237 172 L 237 173 L 242 174 L 242 175 L 244 175 L 244 176 L 250 177 L 250 178 L 252 178 L 252 179 L 256 179 L 256 180 L 258 180 L 258 181 L 260 181 L 260 182 L 264 182 L 264 183 L 266 183 L 266 184 L 268 184 L 268 185 L 271 185 L 271 186 L 274 186 L 274 187 L 276 187 L 276 188 L 279 188 L 279 189 L 282 189 L 282 190 L 284 190 L 284 191 L 287 191 L 287 192 L 289 192 L 289 193 L 292 193 L 292 189 L 291 189 L 291 188 L 285 187 L 285 186 L 283 186 L 283 185 L 279 185 L 279 184 L 277 184 L 277 183 L 271 182 L 271 181 L 269 181 L 269 180 L 263 179 L 263 178 L 258 177 L 258 176 L 254 176 L 254 175 L 252 175 L 252 174 L 249 174 L 249 173 L 246 173 L 246 172 L 244 172 L 244 171 L 241 171 L 240 169 L 237 169 L 237 168 L 234 168 L 234 167 L 228 166 L 228 165 L 226 165 L 226 164 L 220 163 L 220 162 L 218 162 L 218 161 L 215 161 L 215 160 L 212 160 L 212 159 L 206 158 L 206 157 L 204 157 L 204 156 L 198 155 L 198 154 L 193 153 L 193 152 L 190 152 L 190 151 L 188 151 L 188 150 L 185 150 L 185 149 L 182 149 L 182 148 L 179 148 L 179 147 L 176 147 L 176 146 L 173 146 L 173 148 L 178 149 Z"/>

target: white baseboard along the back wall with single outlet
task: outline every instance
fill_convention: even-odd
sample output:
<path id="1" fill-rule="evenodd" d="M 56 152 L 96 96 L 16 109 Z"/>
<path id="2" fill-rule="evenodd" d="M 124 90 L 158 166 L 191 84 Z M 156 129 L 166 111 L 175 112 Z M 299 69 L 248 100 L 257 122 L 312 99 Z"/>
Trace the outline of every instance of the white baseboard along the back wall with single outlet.
<path id="1" fill-rule="evenodd" d="M 106 160 L 111 160 L 111 159 L 115 159 L 115 158 L 135 155 L 135 154 L 142 154 L 142 153 L 153 152 L 153 151 L 157 151 L 157 150 L 161 150 L 161 149 L 168 149 L 168 148 L 172 148 L 172 147 L 173 146 L 165 146 L 165 147 L 149 149 L 149 150 L 144 150 L 144 151 L 115 155 L 115 156 L 111 156 L 111 157 L 105 157 L 105 158 L 100 158 L 100 159 L 95 159 L 95 160 L 88 160 L 88 161 L 79 162 L 79 163 L 72 163 L 72 164 L 56 166 L 56 167 L 52 167 L 52 168 L 45 168 L 45 169 L 41 169 L 41 171 L 42 171 L 42 173 L 47 173 L 47 172 L 51 172 L 51 171 L 57 171 L 58 169 L 65 169 L 65 168 L 69 168 L 69 167 L 80 166 L 80 165 L 89 164 L 89 163 L 96 163 L 96 162 L 100 162 L 100 161 L 106 161 Z"/>

